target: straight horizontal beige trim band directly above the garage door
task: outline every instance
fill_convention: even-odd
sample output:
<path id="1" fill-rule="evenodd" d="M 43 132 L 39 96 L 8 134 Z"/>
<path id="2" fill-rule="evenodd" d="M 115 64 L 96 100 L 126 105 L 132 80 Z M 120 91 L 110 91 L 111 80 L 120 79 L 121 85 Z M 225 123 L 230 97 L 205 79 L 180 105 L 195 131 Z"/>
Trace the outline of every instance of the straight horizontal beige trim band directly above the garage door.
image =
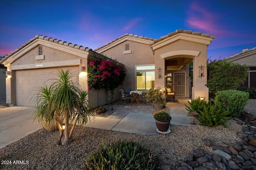
<path id="1" fill-rule="evenodd" d="M 10 66 L 10 70 L 75 66 L 75 65 L 80 65 L 80 64 L 81 64 L 81 59 L 76 59 L 76 60 L 55 61 L 55 62 L 48 62 L 48 63 L 35 63 L 35 64 L 24 64 L 24 65 Z"/>

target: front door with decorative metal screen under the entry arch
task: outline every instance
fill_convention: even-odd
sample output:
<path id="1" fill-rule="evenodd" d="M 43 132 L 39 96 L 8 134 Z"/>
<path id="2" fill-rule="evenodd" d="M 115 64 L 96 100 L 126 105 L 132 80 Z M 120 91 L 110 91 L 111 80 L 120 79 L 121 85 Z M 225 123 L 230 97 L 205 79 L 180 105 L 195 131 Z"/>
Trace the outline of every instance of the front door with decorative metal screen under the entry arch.
<path id="1" fill-rule="evenodd" d="M 174 72 L 175 96 L 186 97 L 186 72 Z"/>

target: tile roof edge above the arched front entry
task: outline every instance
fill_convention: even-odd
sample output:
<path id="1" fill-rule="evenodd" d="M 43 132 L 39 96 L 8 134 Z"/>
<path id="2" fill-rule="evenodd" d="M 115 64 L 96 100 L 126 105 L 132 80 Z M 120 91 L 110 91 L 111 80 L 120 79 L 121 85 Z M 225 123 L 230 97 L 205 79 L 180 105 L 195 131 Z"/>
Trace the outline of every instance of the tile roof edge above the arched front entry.
<path id="1" fill-rule="evenodd" d="M 152 43 L 150 43 L 150 45 L 153 45 L 154 43 L 157 43 L 163 39 L 166 39 L 168 37 L 171 37 L 172 35 L 178 34 L 178 33 L 186 33 L 186 34 L 192 34 L 192 35 L 200 35 L 203 37 L 210 37 L 210 38 L 215 38 L 215 35 L 210 35 L 208 33 L 201 33 L 201 32 L 195 32 L 195 31 L 191 31 L 191 30 L 184 30 L 184 29 L 176 29 L 176 31 L 173 31 L 171 33 L 168 33 L 167 35 L 164 35 L 158 39 L 154 39 Z"/>

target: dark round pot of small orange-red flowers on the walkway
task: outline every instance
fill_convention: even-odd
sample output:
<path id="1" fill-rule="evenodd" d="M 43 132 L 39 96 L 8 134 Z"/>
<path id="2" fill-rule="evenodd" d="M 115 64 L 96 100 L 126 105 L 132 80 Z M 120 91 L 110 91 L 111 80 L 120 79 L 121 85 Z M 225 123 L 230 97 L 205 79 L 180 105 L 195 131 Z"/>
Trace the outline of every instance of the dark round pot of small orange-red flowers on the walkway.
<path id="1" fill-rule="evenodd" d="M 165 111 L 165 109 L 153 111 L 152 112 L 155 120 L 156 120 L 156 127 L 159 133 L 170 133 L 170 121 L 172 117 L 169 113 Z"/>

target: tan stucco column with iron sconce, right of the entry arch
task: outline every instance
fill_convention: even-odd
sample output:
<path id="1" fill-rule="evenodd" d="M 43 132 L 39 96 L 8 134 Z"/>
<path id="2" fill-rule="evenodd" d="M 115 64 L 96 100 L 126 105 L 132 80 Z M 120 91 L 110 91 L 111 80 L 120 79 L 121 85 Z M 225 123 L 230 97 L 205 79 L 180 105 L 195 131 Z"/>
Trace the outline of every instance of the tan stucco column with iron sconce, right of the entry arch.
<path id="1" fill-rule="evenodd" d="M 207 49 L 206 49 L 207 50 Z M 200 55 L 194 57 L 193 61 L 193 87 L 192 87 L 192 99 L 198 97 L 205 97 L 205 100 L 209 100 L 209 89 L 207 84 L 207 51 L 201 51 Z M 199 66 L 204 66 L 203 70 L 200 70 Z M 198 77 L 203 71 L 203 77 Z"/>

